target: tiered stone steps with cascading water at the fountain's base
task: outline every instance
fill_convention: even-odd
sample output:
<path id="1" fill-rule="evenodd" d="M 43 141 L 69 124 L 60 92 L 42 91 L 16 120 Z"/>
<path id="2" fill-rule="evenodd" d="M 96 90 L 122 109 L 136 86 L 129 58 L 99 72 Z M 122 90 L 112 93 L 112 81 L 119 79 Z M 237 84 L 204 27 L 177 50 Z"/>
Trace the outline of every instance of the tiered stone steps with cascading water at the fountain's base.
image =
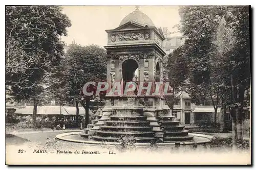
<path id="1" fill-rule="evenodd" d="M 153 131 L 150 121 L 146 116 L 140 114 L 124 116 L 112 115 L 108 118 L 97 116 L 92 120 L 84 132 L 82 137 L 90 137 L 95 141 L 117 142 L 120 138 L 135 139 L 136 142 L 150 142 L 156 138 L 162 138 L 162 142 L 184 142 L 193 140 L 193 135 L 188 135 L 188 130 L 184 126 L 180 126 L 180 122 L 175 116 L 159 116 L 156 117 L 160 124 L 160 134 Z M 99 119 L 101 120 L 99 122 Z M 88 135 L 88 132 L 90 134 Z M 91 134 L 92 133 L 92 134 Z M 162 134 L 162 136 L 161 136 Z"/>

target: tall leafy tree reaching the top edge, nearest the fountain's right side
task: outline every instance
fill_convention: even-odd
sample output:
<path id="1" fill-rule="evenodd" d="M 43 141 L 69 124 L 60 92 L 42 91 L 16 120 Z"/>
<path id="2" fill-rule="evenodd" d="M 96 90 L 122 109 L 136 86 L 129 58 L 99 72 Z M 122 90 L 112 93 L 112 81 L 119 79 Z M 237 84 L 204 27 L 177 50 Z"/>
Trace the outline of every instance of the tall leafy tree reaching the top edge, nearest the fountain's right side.
<path id="1" fill-rule="evenodd" d="M 185 37 L 184 57 L 188 63 L 189 80 L 187 92 L 193 101 L 202 104 L 210 99 L 214 106 L 214 121 L 217 122 L 217 110 L 220 105 L 220 90 L 216 84 L 215 55 L 216 30 L 219 15 L 225 7 L 186 6 L 180 10 L 181 32 Z"/>

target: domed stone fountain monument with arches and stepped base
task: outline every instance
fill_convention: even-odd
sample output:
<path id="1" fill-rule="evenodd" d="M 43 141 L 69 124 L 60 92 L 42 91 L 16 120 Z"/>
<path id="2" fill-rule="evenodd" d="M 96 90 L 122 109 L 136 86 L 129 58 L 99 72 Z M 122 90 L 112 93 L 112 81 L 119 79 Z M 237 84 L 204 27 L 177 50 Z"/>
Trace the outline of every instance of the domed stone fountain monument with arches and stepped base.
<path id="1" fill-rule="evenodd" d="M 138 7 L 120 22 L 119 27 L 106 30 L 108 33 L 107 81 L 114 82 L 162 82 L 162 49 L 165 39 L 161 28 Z M 135 76 L 136 74 L 136 76 Z M 163 90 L 160 88 L 160 91 Z M 82 137 L 95 141 L 115 142 L 120 137 L 133 136 L 136 142 L 189 141 L 193 136 L 179 125 L 166 105 L 163 95 L 106 94 L 102 115 L 92 120 Z"/>

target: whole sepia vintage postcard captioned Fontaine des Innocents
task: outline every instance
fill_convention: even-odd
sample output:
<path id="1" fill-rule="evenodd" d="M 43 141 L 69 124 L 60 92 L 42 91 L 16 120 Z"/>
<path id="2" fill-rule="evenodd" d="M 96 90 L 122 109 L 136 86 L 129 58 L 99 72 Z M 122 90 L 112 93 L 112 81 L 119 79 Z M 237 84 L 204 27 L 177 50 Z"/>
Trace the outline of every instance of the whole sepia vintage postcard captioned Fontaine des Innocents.
<path id="1" fill-rule="evenodd" d="M 250 165 L 250 11 L 6 6 L 6 164 Z"/>

